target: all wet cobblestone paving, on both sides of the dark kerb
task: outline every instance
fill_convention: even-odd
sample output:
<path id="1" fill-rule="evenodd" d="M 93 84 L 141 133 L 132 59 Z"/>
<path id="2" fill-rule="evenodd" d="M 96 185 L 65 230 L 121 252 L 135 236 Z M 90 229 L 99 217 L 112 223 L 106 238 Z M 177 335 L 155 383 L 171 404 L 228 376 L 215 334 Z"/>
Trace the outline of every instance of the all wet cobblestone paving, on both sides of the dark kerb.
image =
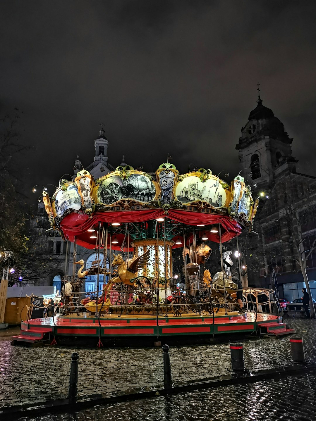
<path id="1" fill-rule="evenodd" d="M 316 362 L 316 320 L 286 319 L 286 322 L 295 328 L 295 335 L 303 336 L 306 355 Z M 274 368 L 289 361 L 289 337 L 243 341 L 246 367 L 251 370 Z M 80 354 L 79 398 L 163 385 L 161 349 L 25 348 L 11 346 L 10 340 L 10 336 L 0 338 L 0 406 L 66 397 L 71 354 L 75 351 Z M 226 375 L 231 368 L 228 344 L 172 347 L 170 359 L 176 384 Z M 169 403 L 166 398 L 157 397 L 96 407 L 75 415 L 32 420 L 316 420 L 316 413 L 315 416 L 311 413 L 312 405 L 316 405 L 313 383 L 315 377 L 311 375 L 287 377 L 174 395 Z M 296 414 L 294 418 L 292 413 Z"/>

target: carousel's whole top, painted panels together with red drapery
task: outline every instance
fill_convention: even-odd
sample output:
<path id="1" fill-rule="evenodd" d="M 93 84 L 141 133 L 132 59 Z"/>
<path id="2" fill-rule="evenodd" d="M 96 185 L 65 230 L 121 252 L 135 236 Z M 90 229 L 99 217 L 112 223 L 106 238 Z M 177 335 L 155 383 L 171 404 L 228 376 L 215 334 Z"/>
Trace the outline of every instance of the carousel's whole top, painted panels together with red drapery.
<path id="1" fill-rule="evenodd" d="M 74 181 L 60 180 L 51 198 L 44 191 L 43 201 L 51 226 L 86 248 L 96 247 L 100 224 L 108 224 L 110 235 L 116 236 L 112 248 L 120 248 L 126 240 L 123 226 L 129 226 L 131 241 L 160 235 L 179 247 L 186 227 L 195 226 L 201 238 L 220 242 L 221 233 L 225 242 L 240 234 L 243 226 L 251 228 L 257 210 L 241 176 L 228 184 L 204 168 L 179 174 L 170 163 L 155 173 L 119 166 L 96 180 L 88 171 L 79 171 Z M 220 233 L 212 229 L 215 225 Z"/>

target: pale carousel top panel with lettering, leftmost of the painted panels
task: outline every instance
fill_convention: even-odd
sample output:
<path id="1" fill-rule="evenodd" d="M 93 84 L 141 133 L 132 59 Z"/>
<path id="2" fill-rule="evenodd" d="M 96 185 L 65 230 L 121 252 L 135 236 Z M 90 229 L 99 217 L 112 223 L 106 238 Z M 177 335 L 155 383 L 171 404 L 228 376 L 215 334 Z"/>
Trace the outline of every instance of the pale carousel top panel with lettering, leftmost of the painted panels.
<path id="1" fill-rule="evenodd" d="M 62 184 L 55 193 L 55 200 L 53 202 L 53 211 L 59 218 L 69 210 L 81 209 L 81 197 L 78 193 L 75 183 Z"/>

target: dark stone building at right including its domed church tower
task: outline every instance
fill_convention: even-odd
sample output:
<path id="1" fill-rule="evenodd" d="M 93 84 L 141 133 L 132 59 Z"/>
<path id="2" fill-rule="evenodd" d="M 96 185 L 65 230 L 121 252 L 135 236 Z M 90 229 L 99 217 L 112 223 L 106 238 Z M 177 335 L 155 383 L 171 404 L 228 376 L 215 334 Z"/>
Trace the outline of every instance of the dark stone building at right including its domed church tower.
<path id="1" fill-rule="evenodd" d="M 259 235 L 250 240 L 253 251 L 247 256 L 248 280 L 249 285 L 268 288 L 273 285 L 274 270 L 280 296 L 290 301 L 300 298 L 303 287 L 303 274 L 295 261 L 295 229 L 300 232 L 305 251 L 311 249 L 316 235 L 316 177 L 296 171 L 292 141 L 259 95 L 236 145 L 241 174 L 260 197 L 254 222 Z M 287 218 L 291 212 L 293 226 Z M 308 258 L 307 274 L 316 299 L 316 250 Z"/>

